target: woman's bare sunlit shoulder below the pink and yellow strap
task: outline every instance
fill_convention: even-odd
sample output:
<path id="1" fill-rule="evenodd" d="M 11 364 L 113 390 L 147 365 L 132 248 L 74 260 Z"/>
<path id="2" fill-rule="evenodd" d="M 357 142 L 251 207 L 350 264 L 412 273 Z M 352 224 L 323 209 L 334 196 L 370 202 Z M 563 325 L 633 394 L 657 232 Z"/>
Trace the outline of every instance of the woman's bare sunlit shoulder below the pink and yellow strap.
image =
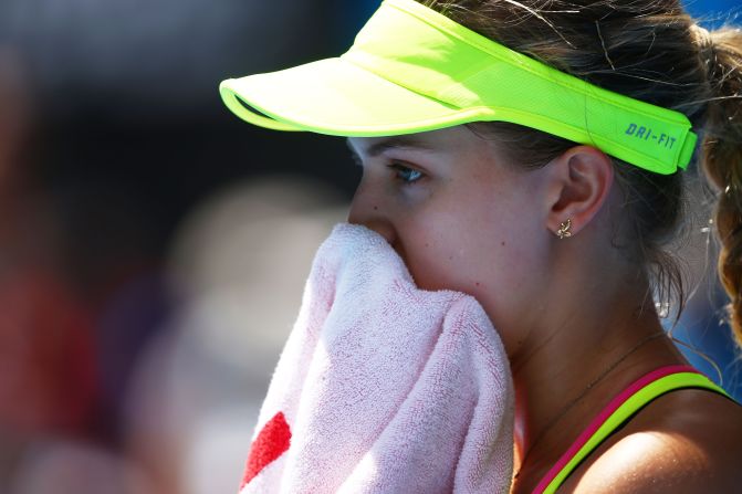
<path id="1" fill-rule="evenodd" d="M 742 407 L 701 390 L 658 398 L 574 472 L 560 493 L 741 492 Z"/>

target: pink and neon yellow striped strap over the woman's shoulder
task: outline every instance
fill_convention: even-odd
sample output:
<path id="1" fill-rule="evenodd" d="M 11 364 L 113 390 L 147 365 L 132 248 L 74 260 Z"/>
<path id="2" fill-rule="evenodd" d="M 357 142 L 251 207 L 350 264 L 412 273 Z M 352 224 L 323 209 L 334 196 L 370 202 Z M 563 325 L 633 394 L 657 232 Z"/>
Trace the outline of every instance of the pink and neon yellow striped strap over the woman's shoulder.
<path id="1" fill-rule="evenodd" d="M 614 398 L 541 480 L 534 493 L 553 494 L 600 443 L 628 418 L 660 395 L 683 388 L 701 388 L 728 398 L 719 386 L 688 366 L 668 366 L 641 377 Z"/>

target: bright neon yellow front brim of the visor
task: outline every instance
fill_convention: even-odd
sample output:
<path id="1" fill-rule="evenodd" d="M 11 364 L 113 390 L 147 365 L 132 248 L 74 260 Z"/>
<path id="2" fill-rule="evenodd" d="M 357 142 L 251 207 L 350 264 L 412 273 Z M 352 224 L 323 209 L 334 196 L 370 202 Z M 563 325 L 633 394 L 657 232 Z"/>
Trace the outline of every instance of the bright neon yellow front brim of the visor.
<path id="1" fill-rule="evenodd" d="M 223 81 L 226 105 L 240 118 L 275 130 L 377 137 L 492 119 L 415 93 L 342 59 Z M 483 109 L 483 108 L 482 108 Z"/>

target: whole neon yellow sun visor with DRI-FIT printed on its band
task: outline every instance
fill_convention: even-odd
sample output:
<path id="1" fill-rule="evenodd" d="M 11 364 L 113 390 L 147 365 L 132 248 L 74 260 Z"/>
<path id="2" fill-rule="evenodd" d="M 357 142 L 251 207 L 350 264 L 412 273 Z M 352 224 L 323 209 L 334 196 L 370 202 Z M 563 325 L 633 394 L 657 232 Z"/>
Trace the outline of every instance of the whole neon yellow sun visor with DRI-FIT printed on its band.
<path id="1" fill-rule="evenodd" d="M 244 120 L 276 130 L 378 137 L 510 122 L 657 174 L 686 168 L 697 136 L 681 113 L 560 72 L 415 0 L 385 0 L 337 59 L 220 85 Z"/>

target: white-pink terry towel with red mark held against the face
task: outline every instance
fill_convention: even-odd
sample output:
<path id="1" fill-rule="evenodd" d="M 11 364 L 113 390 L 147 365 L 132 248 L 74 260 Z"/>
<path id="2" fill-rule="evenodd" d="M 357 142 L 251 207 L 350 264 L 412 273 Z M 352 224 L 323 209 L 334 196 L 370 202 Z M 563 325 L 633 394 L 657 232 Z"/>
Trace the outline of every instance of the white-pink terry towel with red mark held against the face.
<path id="1" fill-rule="evenodd" d="M 513 402 L 479 303 L 417 288 L 384 238 L 339 224 L 315 256 L 241 494 L 506 493 Z"/>

